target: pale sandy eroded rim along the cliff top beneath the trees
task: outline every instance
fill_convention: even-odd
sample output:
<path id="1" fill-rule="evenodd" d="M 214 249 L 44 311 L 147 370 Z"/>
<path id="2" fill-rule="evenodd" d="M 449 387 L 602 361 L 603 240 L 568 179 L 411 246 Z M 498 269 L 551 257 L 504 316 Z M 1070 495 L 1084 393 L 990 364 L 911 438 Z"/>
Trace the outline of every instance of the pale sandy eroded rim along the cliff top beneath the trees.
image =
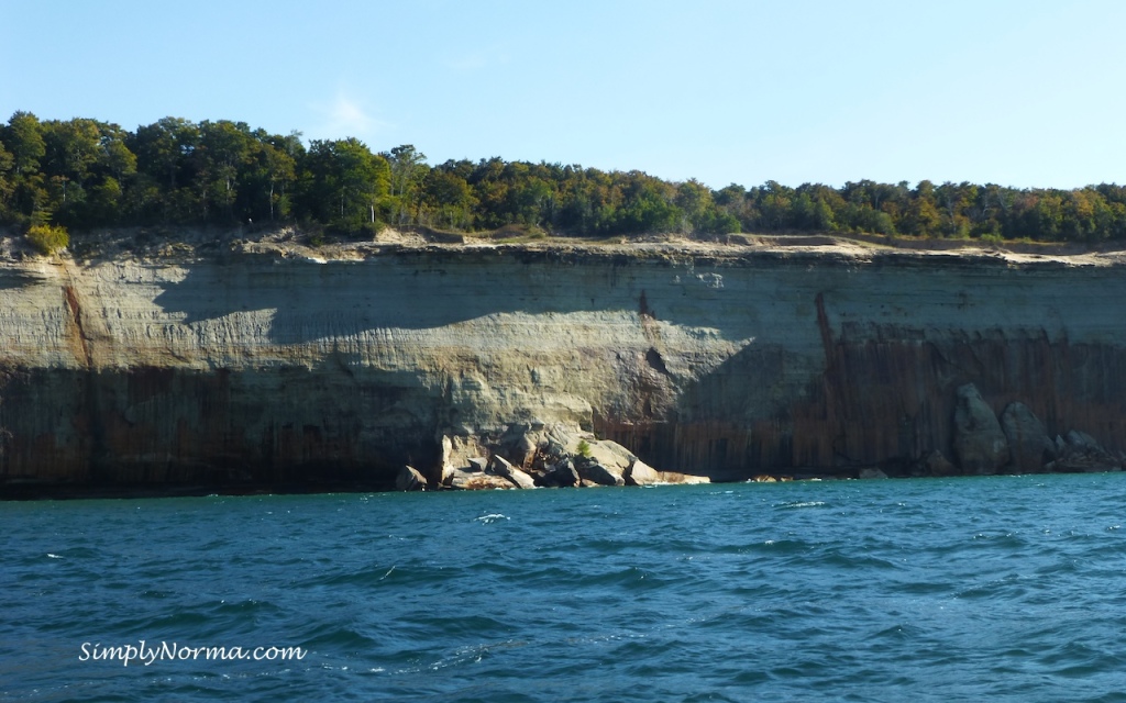
<path id="1" fill-rule="evenodd" d="M 70 250 L 56 256 L 92 265 L 102 262 L 189 264 L 263 255 L 316 263 L 365 261 L 385 255 L 458 253 L 525 254 L 616 261 L 696 259 L 876 265 L 989 265 L 1012 268 L 1126 265 L 1126 244 L 1101 246 L 974 240 L 910 240 L 863 234 L 729 234 L 706 237 L 650 235 L 645 237 L 509 237 L 489 234 L 441 233 L 426 228 L 384 229 L 363 241 L 309 235 L 295 227 L 274 229 L 118 228 L 75 235 Z M 0 232 L 0 262 L 43 259 L 11 232 Z"/>

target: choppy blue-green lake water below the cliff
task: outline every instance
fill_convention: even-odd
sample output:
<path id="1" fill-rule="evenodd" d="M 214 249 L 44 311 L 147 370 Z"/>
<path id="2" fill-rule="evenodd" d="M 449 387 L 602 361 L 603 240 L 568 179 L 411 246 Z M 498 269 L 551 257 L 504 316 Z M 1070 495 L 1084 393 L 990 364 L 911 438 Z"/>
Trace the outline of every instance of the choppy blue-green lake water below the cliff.
<path id="1" fill-rule="evenodd" d="M 1123 524 L 1118 474 L 3 503 L 0 699 L 1126 701 Z M 141 640 L 306 654 L 89 656 Z"/>

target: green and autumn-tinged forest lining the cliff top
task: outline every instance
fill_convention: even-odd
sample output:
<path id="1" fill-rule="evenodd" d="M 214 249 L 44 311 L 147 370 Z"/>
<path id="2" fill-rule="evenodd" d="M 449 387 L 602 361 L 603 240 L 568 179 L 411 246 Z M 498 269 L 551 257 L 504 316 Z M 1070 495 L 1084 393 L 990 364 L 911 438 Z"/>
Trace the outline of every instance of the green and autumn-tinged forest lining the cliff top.
<path id="1" fill-rule="evenodd" d="M 272 226 L 366 236 L 386 226 L 455 232 L 517 225 L 568 236 L 842 232 L 1083 242 L 1126 238 L 1126 187 L 767 181 L 713 190 L 642 171 L 504 161 L 427 163 L 412 145 L 269 134 L 167 117 L 129 132 L 96 119 L 0 125 L 0 224 L 18 231 Z M 37 228 L 37 229 L 36 229 Z"/>

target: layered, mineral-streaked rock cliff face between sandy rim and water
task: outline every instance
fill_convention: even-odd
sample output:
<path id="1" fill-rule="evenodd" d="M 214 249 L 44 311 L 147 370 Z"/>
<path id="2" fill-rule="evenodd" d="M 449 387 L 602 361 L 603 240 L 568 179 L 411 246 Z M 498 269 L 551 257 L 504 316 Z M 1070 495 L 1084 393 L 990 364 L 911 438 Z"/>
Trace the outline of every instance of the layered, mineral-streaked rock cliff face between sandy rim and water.
<path id="1" fill-rule="evenodd" d="M 664 469 L 951 456 L 956 389 L 1126 448 L 1126 269 L 995 256 L 392 249 L 0 265 L 8 483 L 383 481 L 580 424 Z"/>

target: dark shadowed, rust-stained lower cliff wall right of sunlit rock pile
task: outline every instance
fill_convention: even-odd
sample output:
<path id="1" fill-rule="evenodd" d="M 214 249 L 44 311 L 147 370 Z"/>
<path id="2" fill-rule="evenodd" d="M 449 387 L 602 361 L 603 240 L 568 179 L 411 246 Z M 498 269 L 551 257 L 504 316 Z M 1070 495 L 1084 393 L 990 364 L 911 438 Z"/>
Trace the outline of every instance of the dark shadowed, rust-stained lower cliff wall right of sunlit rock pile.
<path id="1" fill-rule="evenodd" d="M 811 322 L 811 324 L 813 324 Z M 888 325 L 837 331 L 826 359 L 752 343 L 688 384 L 655 422 L 596 430 L 662 468 L 743 480 L 757 474 L 905 476 L 953 451 L 957 389 L 974 384 L 993 412 L 1027 404 L 1048 434 L 1126 445 L 1126 350 L 1071 344 L 1036 331 L 991 334 Z M 826 362 L 828 361 L 828 362 Z M 794 384 L 788 373 L 822 368 Z"/>

